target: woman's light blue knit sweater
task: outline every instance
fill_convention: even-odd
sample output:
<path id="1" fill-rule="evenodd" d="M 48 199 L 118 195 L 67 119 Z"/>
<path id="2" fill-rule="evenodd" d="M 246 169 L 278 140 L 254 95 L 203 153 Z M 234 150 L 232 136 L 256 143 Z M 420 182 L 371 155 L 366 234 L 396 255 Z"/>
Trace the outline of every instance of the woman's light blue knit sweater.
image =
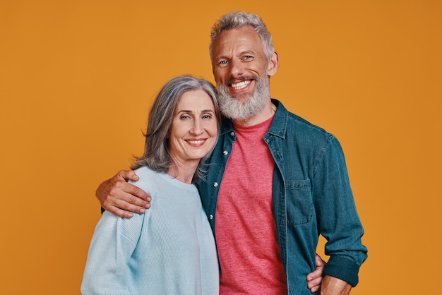
<path id="1" fill-rule="evenodd" d="M 136 174 L 152 206 L 130 219 L 104 212 L 82 294 L 218 294 L 215 240 L 196 187 L 146 167 Z"/>

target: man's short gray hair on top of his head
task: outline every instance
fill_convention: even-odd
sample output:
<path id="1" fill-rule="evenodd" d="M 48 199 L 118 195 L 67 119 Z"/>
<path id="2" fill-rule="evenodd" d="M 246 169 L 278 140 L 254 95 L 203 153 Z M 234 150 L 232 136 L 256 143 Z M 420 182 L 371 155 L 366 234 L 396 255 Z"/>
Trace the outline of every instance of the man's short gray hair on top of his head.
<path id="1" fill-rule="evenodd" d="M 245 26 L 250 26 L 258 33 L 263 43 L 265 56 L 267 56 L 267 59 L 270 59 L 270 56 L 275 52 L 275 48 L 273 47 L 272 35 L 267 30 L 267 27 L 265 27 L 265 23 L 256 14 L 241 11 L 227 13 L 213 25 L 210 32 L 210 58 L 212 58 L 213 42 L 215 42 L 223 30 L 232 30 Z"/>

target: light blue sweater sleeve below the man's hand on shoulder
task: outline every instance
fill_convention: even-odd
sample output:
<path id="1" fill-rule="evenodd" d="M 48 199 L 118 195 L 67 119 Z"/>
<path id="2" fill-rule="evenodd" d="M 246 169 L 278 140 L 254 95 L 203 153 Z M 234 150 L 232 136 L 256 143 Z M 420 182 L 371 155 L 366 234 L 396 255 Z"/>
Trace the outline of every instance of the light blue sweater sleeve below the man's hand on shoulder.
<path id="1" fill-rule="evenodd" d="M 129 294 L 129 267 L 144 215 L 123 219 L 104 212 L 90 242 L 82 294 Z"/>

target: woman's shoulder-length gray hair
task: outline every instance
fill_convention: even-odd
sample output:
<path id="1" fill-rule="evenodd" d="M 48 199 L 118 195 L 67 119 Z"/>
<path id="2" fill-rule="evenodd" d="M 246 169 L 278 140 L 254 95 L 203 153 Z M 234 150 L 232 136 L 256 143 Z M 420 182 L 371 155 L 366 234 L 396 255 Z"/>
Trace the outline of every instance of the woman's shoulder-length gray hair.
<path id="1" fill-rule="evenodd" d="M 169 153 L 169 131 L 172 128 L 175 107 L 179 97 L 184 92 L 203 90 L 205 91 L 215 106 L 217 117 L 217 128 L 220 131 L 221 112 L 217 102 L 217 92 L 212 83 L 201 78 L 183 75 L 169 80 L 155 98 L 149 112 L 148 127 L 145 136 L 145 148 L 142 157 L 136 157 L 136 162 L 131 165 L 131 169 L 138 169 L 147 166 L 155 171 L 167 172 L 174 164 Z M 203 157 L 198 164 L 193 182 L 201 179 L 205 174 L 204 162 L 208 155 Z"/>

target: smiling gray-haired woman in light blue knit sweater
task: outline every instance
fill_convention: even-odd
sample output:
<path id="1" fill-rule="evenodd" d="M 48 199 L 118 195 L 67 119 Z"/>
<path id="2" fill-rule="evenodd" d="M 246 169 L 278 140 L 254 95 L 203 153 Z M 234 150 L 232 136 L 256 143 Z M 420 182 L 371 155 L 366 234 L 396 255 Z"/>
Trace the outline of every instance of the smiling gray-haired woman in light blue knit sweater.
<path id="1" fill-rule="evenodd" d="M 208 81 L 179 76 L 150 109 L 134 182 L 152 196 L 143 215 L 104 212 L 85 265 L 83 294 L 218 294 L 215 240 L 193 183 L 204 177 L 221 114 Z"/>

